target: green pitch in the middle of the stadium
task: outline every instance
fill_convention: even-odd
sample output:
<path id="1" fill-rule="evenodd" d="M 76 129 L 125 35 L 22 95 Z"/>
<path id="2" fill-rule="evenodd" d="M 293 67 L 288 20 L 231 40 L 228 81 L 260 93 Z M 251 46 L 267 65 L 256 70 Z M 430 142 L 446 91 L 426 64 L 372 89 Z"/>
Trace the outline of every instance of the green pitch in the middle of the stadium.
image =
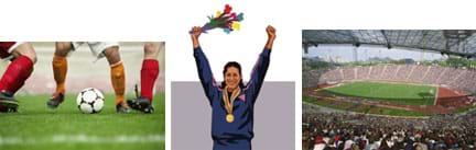
<path id="1" fill-rule="evenodd" d="M 317 92 L 408 105 L 433 105 L 436 88 L 398 83 L 353 82 Z"/>

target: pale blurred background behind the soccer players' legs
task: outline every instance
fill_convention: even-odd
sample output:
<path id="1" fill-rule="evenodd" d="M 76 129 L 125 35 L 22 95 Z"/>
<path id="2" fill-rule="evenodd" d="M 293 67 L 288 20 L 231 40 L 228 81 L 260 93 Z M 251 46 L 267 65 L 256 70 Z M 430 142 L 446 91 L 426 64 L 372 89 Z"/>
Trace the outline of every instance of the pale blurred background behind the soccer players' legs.
<path id="1" fill-rule="evenodd" d="M 55 81 L 53 78 L 52 60 L 55 51 L 54 42 L 33 42 L 37 61 L 34 71 L 18 94 L 53 93 Z M 126 70 L 126 92 L 133 94 L 134 84 L 140 85 L 140 69 L 143 59 L 142 42 L 120 42 L 120 55 Z M 159 54 L 160 74 L 155 84 L 155 92 L 165 91 L 165 47 Z M 66 78 L 67 93 L 77 93 L 85 88 L 97 88 L 105 93 L 113 93 L 110 82 L 110 68 L 106 58 L 96 60 L 87 45 L 82 45 L 69 54 Z M 3 73 L 8 60 L 0 60 L 0 73 Z M 140 89 L 140 86 L 139 86 Z"/>

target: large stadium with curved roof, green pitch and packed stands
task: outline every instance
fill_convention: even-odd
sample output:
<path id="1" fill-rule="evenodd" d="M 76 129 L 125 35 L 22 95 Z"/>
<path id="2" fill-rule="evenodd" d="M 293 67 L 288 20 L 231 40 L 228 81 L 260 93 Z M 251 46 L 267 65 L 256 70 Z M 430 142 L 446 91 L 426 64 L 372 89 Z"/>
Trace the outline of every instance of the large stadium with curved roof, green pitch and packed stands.
<path id="1" fill-rule="evenodd" d="M 303 149 L 474 149 L 474 33 L 304 30 Z"/>

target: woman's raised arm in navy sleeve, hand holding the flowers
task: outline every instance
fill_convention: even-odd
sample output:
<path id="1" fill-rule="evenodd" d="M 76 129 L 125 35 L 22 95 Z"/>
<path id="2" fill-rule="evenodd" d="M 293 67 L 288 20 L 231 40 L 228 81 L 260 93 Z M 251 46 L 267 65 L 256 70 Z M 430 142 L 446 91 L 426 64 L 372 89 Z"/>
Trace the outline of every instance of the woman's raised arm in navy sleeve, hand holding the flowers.
<path id="1" fill-rule="evenodd" d="M 198 77 L 201 79 L 205 95 L 207 96 L 208 102 L 212 105 L 212 100 L 218 95 L 218 85 L 213 77 L 208 59 L 202 51 L 202 47 L 198 44 L 198 36 L 201 35 L 201 27 L 195 26 L 192 30 L 191 36 L 193 42 L 195 62 L 198 70 Z"/>

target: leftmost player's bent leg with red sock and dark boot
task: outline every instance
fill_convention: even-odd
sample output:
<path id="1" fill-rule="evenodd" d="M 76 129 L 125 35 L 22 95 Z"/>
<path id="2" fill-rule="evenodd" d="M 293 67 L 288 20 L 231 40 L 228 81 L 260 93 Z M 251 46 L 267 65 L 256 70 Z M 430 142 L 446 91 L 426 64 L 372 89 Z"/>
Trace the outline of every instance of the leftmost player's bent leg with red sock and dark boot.
<path id="1" fill-rule="evenodd" d="M 13 55 L 13 59 L 0 79 L 0 104 L 6 107 L 17 107 L 18 101 L 13 99 L 13 94 L 23 86 L 33 72 L 36 54 L 30 43 L 19 43 L 8 53 Z"/>

